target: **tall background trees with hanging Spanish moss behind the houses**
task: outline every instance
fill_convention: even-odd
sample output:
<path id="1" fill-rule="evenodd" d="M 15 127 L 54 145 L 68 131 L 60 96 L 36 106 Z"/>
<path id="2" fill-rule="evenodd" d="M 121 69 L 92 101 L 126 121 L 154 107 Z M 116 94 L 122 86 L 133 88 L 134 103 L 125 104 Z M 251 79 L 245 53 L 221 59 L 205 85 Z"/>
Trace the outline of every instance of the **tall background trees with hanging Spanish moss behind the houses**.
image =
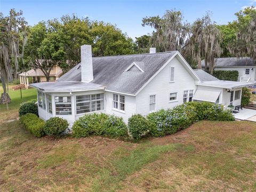
<path id="1" fill-rule="evenodd" d="M 94 57 L 178 50 L 191 67 L 205 68 L 213 73 L 215 58 L 250 57 L 256 59 L 256 9 L 254 6 L 235 13 L 236 21 L 217 25 L 206 13 L 193 23 L 184 21 L 183 14 L 168 10 L 162 17 L 145 17 L 142 26 L 154 28 L 152 34 L 136 37 L 135 41 L 115 25 L 76 15 L 38 22 L 28 26 L 22 11 L 0 12 L 0 76 L 4 95 L 12 76 L 18 71 L 39 68 L 49 81 L 54 65 L 64 71 L 80 62 L 80 46 L 91 44 Z"/>

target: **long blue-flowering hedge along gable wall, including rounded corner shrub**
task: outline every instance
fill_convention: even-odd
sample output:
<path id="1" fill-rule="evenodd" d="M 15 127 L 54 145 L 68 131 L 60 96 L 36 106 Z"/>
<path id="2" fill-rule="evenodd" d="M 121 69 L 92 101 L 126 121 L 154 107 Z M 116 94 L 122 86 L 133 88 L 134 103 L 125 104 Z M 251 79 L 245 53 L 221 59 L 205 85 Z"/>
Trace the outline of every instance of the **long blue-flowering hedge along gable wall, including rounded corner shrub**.
<path id="1" fill-rule="evenodd" d="M 234 121 L 229 110 L 224 110 L 210 102 L 188 102 L 172 109 L 162 109 L 150 113 L 147 117 L 133 115 L 129 118 L 128 127 L 134 139 L 140 139 L 150 133 L 153 137 L 163 137 L 186 129 L 196 121 L 207 119 L 210 121 Z"/>

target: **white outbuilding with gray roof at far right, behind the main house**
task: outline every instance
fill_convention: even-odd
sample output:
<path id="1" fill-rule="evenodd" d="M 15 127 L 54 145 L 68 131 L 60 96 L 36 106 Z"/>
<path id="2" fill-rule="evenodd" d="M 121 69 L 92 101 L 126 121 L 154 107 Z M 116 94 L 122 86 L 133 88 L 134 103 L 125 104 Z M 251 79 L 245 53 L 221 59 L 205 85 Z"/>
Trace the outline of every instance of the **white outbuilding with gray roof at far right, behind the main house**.
<path id="1" fill-rule="evenodd" d="M 204 60 L 202 61 L 202 69 L 205 69 Z M 217 58 L 215 59 L 214 70 L 237 70 L 239 73 L 237 81 L 256 81 L 256 62 L 249 57 Z"/>

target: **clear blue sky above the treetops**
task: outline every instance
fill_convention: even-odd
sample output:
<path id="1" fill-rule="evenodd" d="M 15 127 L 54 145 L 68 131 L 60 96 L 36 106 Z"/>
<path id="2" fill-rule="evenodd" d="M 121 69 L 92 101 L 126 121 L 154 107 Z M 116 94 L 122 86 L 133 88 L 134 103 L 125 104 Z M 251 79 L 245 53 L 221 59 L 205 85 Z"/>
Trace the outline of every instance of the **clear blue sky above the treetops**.
<path id="1" fill-rule="evenodd" d="M 193 22 L 207 11 L 219 24 L 236 19 L 234 13 L 245 6 L 256 5 L 256 0 L 226 1 L 3 1 L 0 11 L 5 15 L 11 8 L 22 10 L 29 25 L 42 20 L 60 18 L 65 14 L 77 14 L 92 20 L 116 24 L 128 36 L 138 37 L 151 33 L 150 27 L 142 27 L 141 20 L 146 16 L 163 15 L 165 10 L 177 9 L 183 12 L 185 20 Z"/>

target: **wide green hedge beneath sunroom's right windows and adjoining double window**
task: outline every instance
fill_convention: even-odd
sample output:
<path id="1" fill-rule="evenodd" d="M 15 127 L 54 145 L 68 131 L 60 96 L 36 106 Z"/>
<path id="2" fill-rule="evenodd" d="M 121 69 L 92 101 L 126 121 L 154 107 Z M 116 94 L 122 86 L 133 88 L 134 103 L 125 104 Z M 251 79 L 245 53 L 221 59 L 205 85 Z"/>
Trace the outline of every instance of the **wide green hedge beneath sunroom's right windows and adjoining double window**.
<path id="1" fill-rule="evenodd" d="M 76 138 L 102 135 L 111 138 L 127 137 L 127 127 L 122 117 L 93 113 L 77 119 L 72 127 Z"/>

